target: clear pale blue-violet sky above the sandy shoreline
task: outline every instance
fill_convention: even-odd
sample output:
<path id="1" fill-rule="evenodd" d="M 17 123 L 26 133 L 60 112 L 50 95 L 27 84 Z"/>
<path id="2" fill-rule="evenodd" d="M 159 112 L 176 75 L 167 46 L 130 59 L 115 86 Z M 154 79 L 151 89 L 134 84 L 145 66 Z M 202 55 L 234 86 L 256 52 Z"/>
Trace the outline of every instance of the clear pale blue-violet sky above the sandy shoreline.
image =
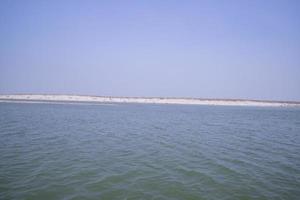
<path id="1" fill-rule="evenodd" d="M 0 1 L 0 94 L 300 101 L 300 1 Z"/>

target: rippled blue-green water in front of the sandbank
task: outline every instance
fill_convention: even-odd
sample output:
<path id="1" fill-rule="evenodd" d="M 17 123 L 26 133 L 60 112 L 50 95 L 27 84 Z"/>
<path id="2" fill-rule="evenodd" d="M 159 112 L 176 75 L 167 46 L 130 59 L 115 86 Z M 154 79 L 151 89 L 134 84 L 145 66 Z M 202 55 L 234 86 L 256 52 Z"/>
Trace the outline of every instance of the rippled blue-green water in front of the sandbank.
<path id="1" fill-rule="evenodd" d="M 300 199 L 300 109 L 0 103 L 0 199 Z"/>

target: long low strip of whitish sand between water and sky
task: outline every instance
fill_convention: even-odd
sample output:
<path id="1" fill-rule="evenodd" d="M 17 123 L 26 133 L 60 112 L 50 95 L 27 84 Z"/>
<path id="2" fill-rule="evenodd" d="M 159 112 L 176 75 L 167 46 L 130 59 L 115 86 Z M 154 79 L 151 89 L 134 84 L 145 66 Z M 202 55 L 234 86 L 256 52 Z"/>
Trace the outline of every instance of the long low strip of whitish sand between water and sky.
<path id="1" fill-rule="evenodd" d="M 257 100 L 193 99 L 193 98 L 148 98 L 148 97 L 100 97 L 81 95 L 0 95 L 0 102 L 7 101 L 50 101 L 50 102 L 88 102 L 88 103 L 153 103 L 190 104 L 222 106 L 298 106 L 300 102 L 278 102 Z"/>

